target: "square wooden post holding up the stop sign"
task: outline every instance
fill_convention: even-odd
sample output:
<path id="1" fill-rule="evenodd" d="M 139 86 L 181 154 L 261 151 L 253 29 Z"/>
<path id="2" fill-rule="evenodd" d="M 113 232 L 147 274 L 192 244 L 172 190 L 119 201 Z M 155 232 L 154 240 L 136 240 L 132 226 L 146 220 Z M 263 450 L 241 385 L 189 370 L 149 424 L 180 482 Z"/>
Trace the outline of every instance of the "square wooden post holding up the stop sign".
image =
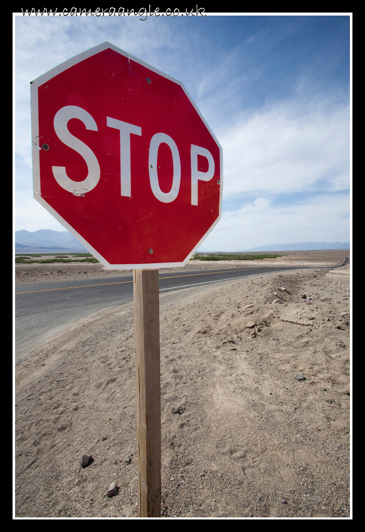
<path id="1" fill-rule="evenodd" d="M 133 270 L 139 517 L 161 517 L 159 270 Z"/>

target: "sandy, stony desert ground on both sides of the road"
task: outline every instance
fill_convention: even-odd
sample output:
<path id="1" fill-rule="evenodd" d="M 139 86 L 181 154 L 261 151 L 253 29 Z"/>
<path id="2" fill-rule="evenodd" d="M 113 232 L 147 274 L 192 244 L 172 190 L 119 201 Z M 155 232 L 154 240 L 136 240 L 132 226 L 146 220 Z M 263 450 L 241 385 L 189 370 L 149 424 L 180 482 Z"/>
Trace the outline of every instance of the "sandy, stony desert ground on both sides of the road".
<path id="1" fill-rule="evenodd" d="M 320 268 L 350 255 L 283 254 L 273 264 L 311 268 L 160 294 L 163 517 L 351 517 L 350 265 Z M 15 268 L 16 284 L 116 275 L 130 272 Z M 14 516 L 137 517 L 132 303 L 76 321 L 14 371 Z"/>

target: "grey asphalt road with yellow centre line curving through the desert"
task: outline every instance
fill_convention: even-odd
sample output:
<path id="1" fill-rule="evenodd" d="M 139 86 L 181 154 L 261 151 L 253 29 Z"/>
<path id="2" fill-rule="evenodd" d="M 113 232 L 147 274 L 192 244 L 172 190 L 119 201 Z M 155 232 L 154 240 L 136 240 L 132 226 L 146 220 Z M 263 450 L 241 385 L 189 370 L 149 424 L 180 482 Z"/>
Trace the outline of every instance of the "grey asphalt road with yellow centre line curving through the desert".
<path id="1" fill-rule="evenodd" d="M 343 265 L 346 265 L 349 259 Z M 298 268 L 235 268 L 160 273 L 160 293 Z M 15 364 L 55 332 L 79 318 L 133 300 L 133 280 L 114 277 L 15 287 Z"/>

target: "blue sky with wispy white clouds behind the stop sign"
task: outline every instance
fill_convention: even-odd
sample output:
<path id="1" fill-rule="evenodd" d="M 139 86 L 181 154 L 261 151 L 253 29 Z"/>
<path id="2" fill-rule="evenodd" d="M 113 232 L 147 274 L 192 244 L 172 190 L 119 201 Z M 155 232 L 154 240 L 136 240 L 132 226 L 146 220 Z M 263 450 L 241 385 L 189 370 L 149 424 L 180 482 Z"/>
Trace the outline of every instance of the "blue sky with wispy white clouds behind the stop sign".
<path id="1" fill-rule="evenodd" d="M 238 251 L 350 240 L 351 17 L 14 16 L 14 228 L 64 228 L 32 196 L 29 83 L 108 40 L 182 81 L 223 148 L 222 219 Z"/>

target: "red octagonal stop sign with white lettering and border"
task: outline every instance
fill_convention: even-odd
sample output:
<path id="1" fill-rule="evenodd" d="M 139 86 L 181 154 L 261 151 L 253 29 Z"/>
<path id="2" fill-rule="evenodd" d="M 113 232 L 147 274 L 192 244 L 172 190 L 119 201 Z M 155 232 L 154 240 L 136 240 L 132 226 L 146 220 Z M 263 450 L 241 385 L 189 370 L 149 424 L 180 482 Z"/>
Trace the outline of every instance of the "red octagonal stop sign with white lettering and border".
<path id="1" fill-rule="evenodd" d="M 182 266 L 221 217 L 222 149 L 183 84 L 110 43 L 31 82 L 34 197 L 107 268 Z"/>

